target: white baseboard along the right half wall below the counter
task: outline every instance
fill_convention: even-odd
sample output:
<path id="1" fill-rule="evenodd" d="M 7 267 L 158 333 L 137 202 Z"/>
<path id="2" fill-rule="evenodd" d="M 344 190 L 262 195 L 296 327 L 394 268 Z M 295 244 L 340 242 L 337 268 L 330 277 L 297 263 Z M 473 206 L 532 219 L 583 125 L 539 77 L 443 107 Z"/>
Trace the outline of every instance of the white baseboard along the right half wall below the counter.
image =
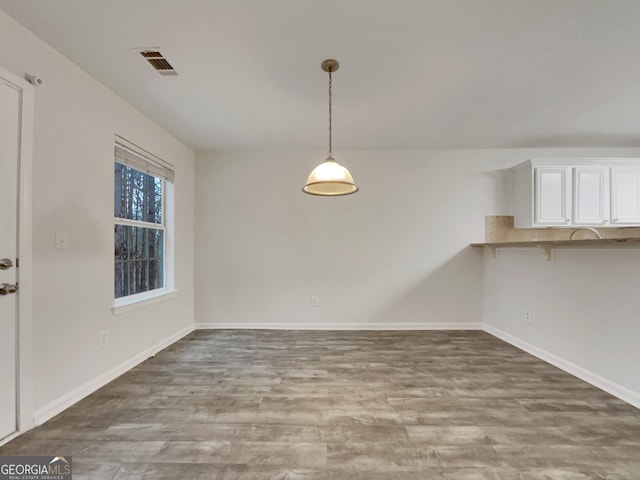
<path id="1" fill-rule="evenodd" d="M 544 360 L 551 365 L 558 367 L 561 370 L 564 370 L 571 375 L 578 377 L 581 380 L 584 380 L 591 385 L 598 387 L 601 390 L 613 395 L 614 397 L 619 398 L 620 400 L 627 402 L 630 405 L 633 405 L 636 408 L 640 408 L 640 394 L 638 392 L 634 392 L 633 390 L 629 390 L 627 387 L 623 387 L 615 382 L 607 380 L 600 375 L 597 375 L 589 370 L 586 370 L 575 363 L 572 363 L 564 358 L 558 357 L 553 353 L 547 352 L 542 348 L 535 347 L 530 343 L 525 342 L 513 335 L 500 330 L 499 328 L 493 327 L 488 324 L 484 324 L 484 331 L 490 333 L 494 337 L 499 338 L 500 340 L 504 340 L 507 343 L 510 343 L 514 347 L 518 347 L 521 350 L 524 350 L 527 353 L 530 353 L 534 357 L 538 357 L 541 360 Z"/>

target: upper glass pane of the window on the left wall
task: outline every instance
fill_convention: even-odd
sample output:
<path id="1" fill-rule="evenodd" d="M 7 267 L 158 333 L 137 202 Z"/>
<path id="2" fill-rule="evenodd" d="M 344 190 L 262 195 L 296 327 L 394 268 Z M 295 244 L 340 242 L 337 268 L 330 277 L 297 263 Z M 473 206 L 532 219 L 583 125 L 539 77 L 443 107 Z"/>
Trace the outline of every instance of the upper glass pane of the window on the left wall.
<path id="1" fill-rule="evenodd" d="M 115 216 L 162 223 L 163 180 L 117 162 L 115 166 Z"/>

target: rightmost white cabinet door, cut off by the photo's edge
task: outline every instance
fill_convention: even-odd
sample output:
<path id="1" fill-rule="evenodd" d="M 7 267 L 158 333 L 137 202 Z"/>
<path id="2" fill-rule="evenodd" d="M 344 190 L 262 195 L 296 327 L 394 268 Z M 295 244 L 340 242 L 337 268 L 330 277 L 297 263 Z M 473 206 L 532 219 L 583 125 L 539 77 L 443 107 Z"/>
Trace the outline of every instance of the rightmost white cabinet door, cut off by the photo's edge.
<path id="1" fill-rule="evenodd" d="M 640 167 L 611 167 L 611 223 L 640 223 Z"/>

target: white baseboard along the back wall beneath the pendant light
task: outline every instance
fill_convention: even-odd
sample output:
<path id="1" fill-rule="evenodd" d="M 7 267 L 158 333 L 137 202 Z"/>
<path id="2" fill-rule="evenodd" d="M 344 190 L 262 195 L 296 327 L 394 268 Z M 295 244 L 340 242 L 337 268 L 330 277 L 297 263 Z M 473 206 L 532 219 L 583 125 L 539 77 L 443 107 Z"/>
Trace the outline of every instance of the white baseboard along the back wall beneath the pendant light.
<path id="1" fill-rule="evenodd" d="M 482 330 L 482 323 L 196 323 L 196 330 Z"/>

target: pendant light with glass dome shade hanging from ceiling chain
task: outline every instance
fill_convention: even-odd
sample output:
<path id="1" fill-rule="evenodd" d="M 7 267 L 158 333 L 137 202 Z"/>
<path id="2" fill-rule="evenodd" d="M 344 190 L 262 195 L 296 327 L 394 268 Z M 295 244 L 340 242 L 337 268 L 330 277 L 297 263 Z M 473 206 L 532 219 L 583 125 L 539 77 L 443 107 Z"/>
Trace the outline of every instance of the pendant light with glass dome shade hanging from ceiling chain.
<path id="1" fill-rule="evenodd" d="M 338 195 L 350 195 L 358 191 L 353 177 L 345 167 L 333 158 L 332 150 L 332 124 L 331 124 L 331 74 L 338 70 L 340 64 L 337 60 L 325 60 L 322 62 L 322 70 L 329 73 L 329 155 L 327 159 L 314 168 L 307 178 L 307 184 L 302 188 L 304 193 L 334 197 Z"/>

